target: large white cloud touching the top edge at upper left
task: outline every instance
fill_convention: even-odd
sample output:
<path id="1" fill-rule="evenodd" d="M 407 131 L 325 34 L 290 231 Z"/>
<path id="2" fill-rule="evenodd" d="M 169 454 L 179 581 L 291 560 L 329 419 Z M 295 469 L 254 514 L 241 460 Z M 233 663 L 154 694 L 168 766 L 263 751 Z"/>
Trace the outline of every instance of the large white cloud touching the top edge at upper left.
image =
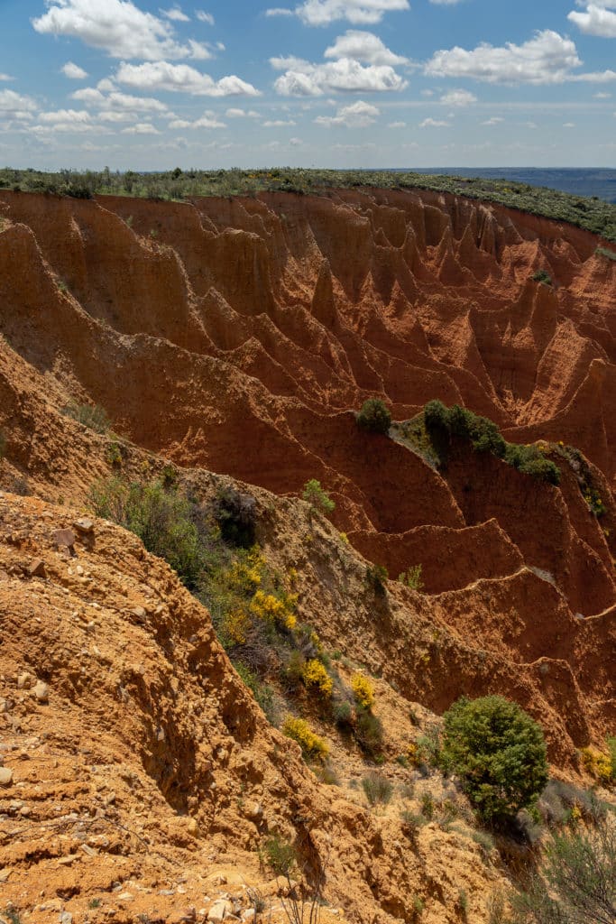
<path id="1" fill-rule="evenodd" d="M 207 45 L 189 40 L 178 43 L 174 27 L 151 13 L 144 13 L 131 0 L 47 0 L 49 9 L 32 19 L 37 32 L 80 39 L 110 57 L 164 58 L 211 57 Z"/>

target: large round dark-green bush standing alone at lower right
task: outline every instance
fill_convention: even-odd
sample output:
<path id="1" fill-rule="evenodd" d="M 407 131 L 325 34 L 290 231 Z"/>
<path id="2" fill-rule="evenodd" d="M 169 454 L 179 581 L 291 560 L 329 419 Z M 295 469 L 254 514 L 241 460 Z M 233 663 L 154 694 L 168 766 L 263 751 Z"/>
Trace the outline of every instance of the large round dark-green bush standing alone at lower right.
<path id="1" fill-rule="evenodd" d="M 534 808 L 548 782 L 543 733 L 501 696 L 458 699 L 444 713 L 441 760 L 455 772 L 483 821 L 509 823 Z"/>

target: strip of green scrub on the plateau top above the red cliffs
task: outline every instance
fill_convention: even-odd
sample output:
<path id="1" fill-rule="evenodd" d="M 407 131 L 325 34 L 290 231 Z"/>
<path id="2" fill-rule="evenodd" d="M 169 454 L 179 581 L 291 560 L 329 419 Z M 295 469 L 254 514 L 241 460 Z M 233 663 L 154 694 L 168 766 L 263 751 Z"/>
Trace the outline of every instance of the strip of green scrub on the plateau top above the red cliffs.
<path id="1" fill-rule="evenodd" d="M 254 196 L 260 192 L 294 192 L 327 195 L 340 188 L 429 189 L 467 199 L 496 202 L 510 209 L 541 215 L 585 228 L 616 242 L 616 205 L 560 192 L 556 189 L 515 183 L 507 179 L 373 170 L 305 170 L 290 167 L 268 170 L 175 170 L 164 173 L 113 173 L 102 171 L 0 170 L 0 188 L 22 192 L 91 199 L 94 195 L 136 196 L 182 201 L 196 196 Z M 604 256 L 614 259 L 612 251 Z"/>

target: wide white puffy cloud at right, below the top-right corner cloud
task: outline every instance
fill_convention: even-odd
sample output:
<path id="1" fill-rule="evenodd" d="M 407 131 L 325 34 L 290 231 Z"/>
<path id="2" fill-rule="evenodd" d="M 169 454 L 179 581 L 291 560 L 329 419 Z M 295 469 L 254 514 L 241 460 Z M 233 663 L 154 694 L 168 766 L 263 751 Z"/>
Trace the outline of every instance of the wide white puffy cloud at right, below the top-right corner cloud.
<path id="1" fill-rule="evenodd" d="M 521 45 L 486 43 L 473 51 L 454 47 L 432 55 L 425 67 L 429 77 L 472 78 L 488 83 L 561 83 L 580 67 L 574 43 L 558 32 L 544 30 Z"/>

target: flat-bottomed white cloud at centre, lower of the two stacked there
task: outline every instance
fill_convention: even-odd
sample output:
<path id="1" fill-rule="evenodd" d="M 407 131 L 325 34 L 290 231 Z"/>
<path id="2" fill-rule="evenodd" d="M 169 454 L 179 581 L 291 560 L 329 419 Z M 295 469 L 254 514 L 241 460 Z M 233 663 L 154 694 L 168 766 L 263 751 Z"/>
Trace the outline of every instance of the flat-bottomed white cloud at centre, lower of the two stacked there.
<path id="1" fill-rule="evenodd" d="M 284 74 L 274 88 L 284 96 L 321 96 L 331 92 L 380 92 L 404 90 L 407 81 L 389 65 L 364 67 L 353 58 L 327 64 L 311 64 L 296 57 L 270 58 L 275 70 Z"/>

